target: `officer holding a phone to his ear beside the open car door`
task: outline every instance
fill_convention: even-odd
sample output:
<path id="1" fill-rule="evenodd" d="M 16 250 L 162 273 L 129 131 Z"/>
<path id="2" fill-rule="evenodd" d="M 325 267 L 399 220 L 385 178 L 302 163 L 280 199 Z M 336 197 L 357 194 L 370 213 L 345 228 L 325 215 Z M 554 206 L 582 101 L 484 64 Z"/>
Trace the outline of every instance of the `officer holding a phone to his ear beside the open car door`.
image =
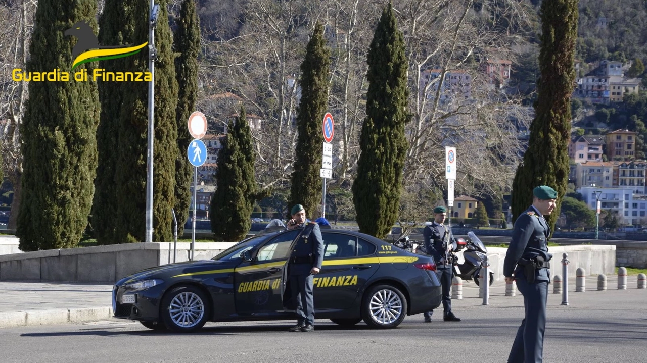
<path id="1" fill-rule="evenodd" d="M 303 232 L 294 245 L 288 266 L 288 280 L 297 315 L 296 326 L 289 330 L 306 333 L 314 330 L 313 276 L 322 268 L 323 239 L 318 223 L 305 219 L 303 205 L 294 205 L 291 214 L 292 219 L 286 229 L 303 228 Z"/>

